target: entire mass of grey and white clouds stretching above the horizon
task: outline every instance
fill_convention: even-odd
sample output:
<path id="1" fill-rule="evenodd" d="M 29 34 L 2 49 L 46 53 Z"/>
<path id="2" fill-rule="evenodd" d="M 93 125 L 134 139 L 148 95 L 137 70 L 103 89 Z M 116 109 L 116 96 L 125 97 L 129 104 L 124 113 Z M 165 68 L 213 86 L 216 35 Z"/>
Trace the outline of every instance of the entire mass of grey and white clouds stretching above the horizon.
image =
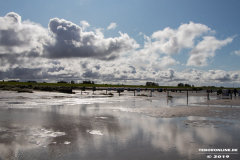
<path id="1" fill-rule="evenodd" d="M 22 22 L 20 15 L 11 12 L 0 17 L 0 24 L 3 78 L 138 84 L 240 81 L 240 71 L 169 68 L 180 64 L 174 56 L 184 48 L 192 49 L 187 65 L 204 66 L 217 49 L 232 42 L 233 37 L 218 40 L 211 35 L 213 30 L 199 23 L 181 24 L 177 29 L 167 27 L 151 36 L 141 33 L 145 40 L 141 49 L 127 33 L 105 38 L 102 28 L 86 31 L 90 26 L 86 21 L 76 25 L 53 18 L 44 28 L 29 20 Z"/>

